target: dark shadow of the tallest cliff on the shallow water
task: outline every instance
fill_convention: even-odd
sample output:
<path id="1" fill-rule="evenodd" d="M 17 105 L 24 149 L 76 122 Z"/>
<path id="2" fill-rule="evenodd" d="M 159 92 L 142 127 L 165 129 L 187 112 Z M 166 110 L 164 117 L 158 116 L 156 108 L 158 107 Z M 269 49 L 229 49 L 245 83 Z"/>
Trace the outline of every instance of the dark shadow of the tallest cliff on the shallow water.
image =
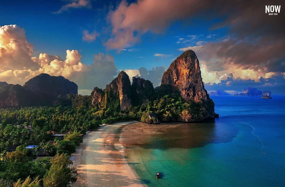
<path id="1" fill-rule="evenodd" d="M 151 128 L 151 126 L 150 126 Z M 201 123 L 185 123 L 175 128 L 159 130 L 148 144 L 136 144 L 150 149 L 196 148 L 209 143 L 226 143 L 237 136 L 236 122 L 229 119 L 211 119 Z"/>

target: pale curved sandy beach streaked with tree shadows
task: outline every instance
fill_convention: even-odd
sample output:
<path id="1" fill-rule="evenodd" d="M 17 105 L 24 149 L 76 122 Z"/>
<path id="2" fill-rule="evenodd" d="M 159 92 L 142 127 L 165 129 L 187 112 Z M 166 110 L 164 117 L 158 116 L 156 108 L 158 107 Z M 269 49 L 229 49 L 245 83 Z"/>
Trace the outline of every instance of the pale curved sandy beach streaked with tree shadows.
<path id="1" fill-rule="evenodd" d="M 84 142 L 71 159 L 78 170 L 72 186 L 143 186 L 126 161 L 124 146 L 119 143 L 120 130 L 134 121 L 105 125 L 84 136 Z"/>

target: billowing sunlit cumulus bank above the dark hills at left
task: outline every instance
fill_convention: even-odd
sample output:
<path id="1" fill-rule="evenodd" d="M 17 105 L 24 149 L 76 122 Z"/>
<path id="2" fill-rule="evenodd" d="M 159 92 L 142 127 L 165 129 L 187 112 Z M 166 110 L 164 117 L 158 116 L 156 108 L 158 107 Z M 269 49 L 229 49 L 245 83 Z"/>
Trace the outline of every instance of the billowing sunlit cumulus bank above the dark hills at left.
<path id="1" fill-rule="evenodd" d="M 32 57 L 32 52 L 33 45 L 28 43 L 23 28 L 17 25 L 0 27 L 0 81 L 23 85 L 40 73 L 48 73 L 75 81 L 82 89 L 93 89 L 104 87 L 117 75 L 111 55 L 94 55 L 93 63 L 87 66 L 81 62 L 77 50 L 66 50 L 65 60 L 46 53 Z"/>

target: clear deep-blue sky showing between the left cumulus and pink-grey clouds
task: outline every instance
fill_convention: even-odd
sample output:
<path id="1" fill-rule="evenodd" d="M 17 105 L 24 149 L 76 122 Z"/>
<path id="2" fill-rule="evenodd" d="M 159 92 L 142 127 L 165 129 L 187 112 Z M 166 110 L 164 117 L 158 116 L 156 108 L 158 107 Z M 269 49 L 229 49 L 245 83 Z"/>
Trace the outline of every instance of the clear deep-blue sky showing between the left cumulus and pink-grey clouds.
<path id="1" fill-rule="evenodd" d="M 225 35 L 226 29 L 212 31 L 211 21 L 176 21 L 170 27 L 160 34 L 146 33 L 141 37 L 141 42 L 127 48 L 132 51 L 108 50 L 103 43 L 108 34 L 105 34 L 105 28 L 108 27 L 106 20 L 109 7 L 115 6 L 116 1 L 100 2 L 92 1 L 93 8 L 68 9 L 62 13 L 54 14 L 66 4 L 64 1 L 46 1 L 44 4 L 39 1 L 17 1 L 17 6 L 11 6 L 11 3 L 4 3 L 1 8 L 0 16 L 5 19 L 0 21 L 0 25 L 19 25 L 24 27 L 27 35 L 27 41 L 34 45 L 33 56 L 40 53 L 49 55 L 58 55 L 65 57 L 66 49 L 80 51 L 82 61 L 91 64 L 93 54 L 103 52 L 113 55 L 115 65 L 118 69 L 139 69 L 145 67 L 151 69 L 156 66 L 165 66 L 168 68 L 171 59 L 178 57 L 183 51 L 178 51 L 181 47 L 195 45 L 196 41 L 210 41 L 206 38 L 210 34 Z M 131 1 L 130 1 L 131 3 Z M 39 8 L 41 7 L 41 8 Z M 13 16 L 6 17 L 13 12 Z M 100 36 L 93 42 L 82 41 L 82 32 L 100 33 Z M 201 35 L 191 42 L 192 37 L 188 35 Z M 178 38 L 184 38 L 180 43 L 176 43 Z M 214 38 L 212 38 L 214 39 Z M 154 57 L 155 53 L 171 55 L 165 58 Z M 143 57 L 143 58 L 139 58 Z"/>

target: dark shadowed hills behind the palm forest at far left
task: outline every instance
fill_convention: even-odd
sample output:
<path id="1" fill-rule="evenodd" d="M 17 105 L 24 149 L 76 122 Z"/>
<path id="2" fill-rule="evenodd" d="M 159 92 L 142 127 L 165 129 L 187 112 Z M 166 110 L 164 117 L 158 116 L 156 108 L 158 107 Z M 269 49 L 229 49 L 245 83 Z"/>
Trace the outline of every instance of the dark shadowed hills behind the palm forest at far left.
<path id="1" fill-rule="evenodd" d="M 40 74 L 24 86 L 5 84 L 0 88 L 0 108 L 52 105 L 58 95 L 77 94 L 75 83 L 62 76 Z"/>

